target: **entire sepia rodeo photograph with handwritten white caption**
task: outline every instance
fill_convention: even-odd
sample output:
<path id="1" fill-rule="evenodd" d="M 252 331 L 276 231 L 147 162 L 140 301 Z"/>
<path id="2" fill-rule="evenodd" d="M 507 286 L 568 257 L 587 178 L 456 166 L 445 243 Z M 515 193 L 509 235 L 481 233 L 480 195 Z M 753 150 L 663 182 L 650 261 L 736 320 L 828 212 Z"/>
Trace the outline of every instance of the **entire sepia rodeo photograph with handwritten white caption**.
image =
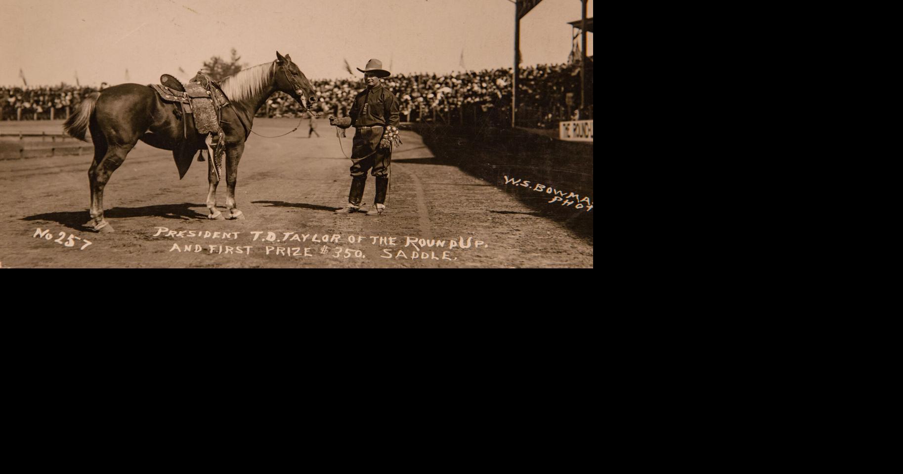
<path id="1" fill-rule="evenodd" d="M 0 270 L 592 268 L 592 0 L 0 0 Z"/>

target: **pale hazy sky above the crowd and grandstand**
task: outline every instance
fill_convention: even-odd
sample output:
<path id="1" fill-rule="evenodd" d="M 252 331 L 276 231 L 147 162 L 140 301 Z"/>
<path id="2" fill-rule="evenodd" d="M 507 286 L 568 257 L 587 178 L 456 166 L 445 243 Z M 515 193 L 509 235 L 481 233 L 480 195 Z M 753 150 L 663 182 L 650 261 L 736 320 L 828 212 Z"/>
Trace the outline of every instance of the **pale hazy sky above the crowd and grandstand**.
<path id="1" fill-rule="evenodd" d="M 291 54 L 309 79 L 349 78 L 346 59 L 363 69 L 377 58 L 393 73 L 507 68 L 514 8 L 509 0 L 0 0 L 0 85 L 21 86 L 20 68 L 29 85 L 74 84 L 76 74 L 82 85 L 190 78 L 233 47 L 248 66 Z M 580 17 L 580 0 L 543 0 L 520 22 L 522 65 L 565 62 L 567 22 Z"/>

